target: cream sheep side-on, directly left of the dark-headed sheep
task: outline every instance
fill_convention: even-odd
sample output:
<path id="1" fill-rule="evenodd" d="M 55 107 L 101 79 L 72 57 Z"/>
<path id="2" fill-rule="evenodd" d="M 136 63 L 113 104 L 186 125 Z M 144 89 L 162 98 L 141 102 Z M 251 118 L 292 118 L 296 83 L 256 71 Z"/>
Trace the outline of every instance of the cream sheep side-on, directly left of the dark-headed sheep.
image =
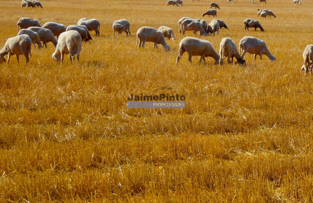
<path id="1" fill-rule="evenodd" d="M 212 57 L 215 60 L 214 65 L 218 65 L 220 56 L 213 48 L 212 44 L 206 40 L 201 40 L 194 37 L 185 37 L 179 43 L 179 54 L 176 58 L 176 64 L 182 58 L 182 55 L 187 52 L 189 54 L 188 61 L 192 63 L 192 56 L 201 56 L 199 64 L 205 63 L 205 57 Z"/>

